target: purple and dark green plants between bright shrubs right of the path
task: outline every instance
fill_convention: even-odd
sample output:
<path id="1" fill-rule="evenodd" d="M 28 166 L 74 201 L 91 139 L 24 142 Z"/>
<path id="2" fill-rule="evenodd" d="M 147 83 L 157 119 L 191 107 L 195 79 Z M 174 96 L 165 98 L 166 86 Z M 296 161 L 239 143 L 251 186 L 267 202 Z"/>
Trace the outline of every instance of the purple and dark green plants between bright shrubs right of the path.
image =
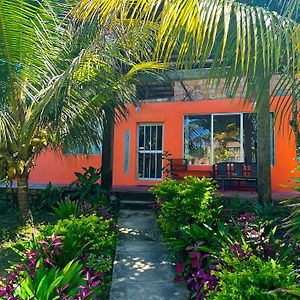
<path id="1" fill-rule="evenodd" d="M 214 270 L 224 264 L 217 259 L 223 251 L 245 263 L 252 256 L 268 261 L 279 257 L 276 247 L 279 242 L 283 243 L 275 238 L 276 228 L 268 232 L 252 213 L 240 215 L 236 221 L 220 222 L 217 226 L 193 224 L 182 228 L 180 233 L 179 237 L 174 238 L 176 242 L 172 241 L 175 249 L 181 251 L 181 254 L 177 253 L 180 259 L 176 265 L 175 281 L 186 279 L 192 299 L 196 300 L 206 298 L 210 291 L 218 288 Z M 194 245 L 186 247 L 183 254 L 182 247 L 188 241 L 194 241 Z M 226 268 L 225 265 L 223 267 Z"/>

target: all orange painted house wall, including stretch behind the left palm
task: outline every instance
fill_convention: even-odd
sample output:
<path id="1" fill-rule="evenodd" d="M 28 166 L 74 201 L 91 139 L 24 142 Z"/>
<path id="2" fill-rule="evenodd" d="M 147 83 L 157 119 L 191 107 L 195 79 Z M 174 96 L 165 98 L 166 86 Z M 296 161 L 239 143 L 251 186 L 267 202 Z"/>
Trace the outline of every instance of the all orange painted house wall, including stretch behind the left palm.
<path id="1" fill-rule="evenodd" d="M 277 99 L 279 101 L 279 99 Z M 274 109 L 275 104 L 272 105 Z M 161 123 L 164 125 L 163 150 L 172 153 L 174 158 L 183 157 L 183 119 L 187 114 L 211 114 L 249 112 L 253 110 L 249 104 L 245 106 L 240 99 L 235 100 L 201 100 L 180 102 L 149 102 L 142 103 L 140 111 L 130 107 L 130 117 L 127 121 L 116 125 L 114 148 L 114 185 L 152 185 L 157 181 L 141 181 L 137 179 L 137 129 L 140 123 Z M 284 120 L 287 124 L 287 120 Z M 124 173 L 124 134 L 130 132 L 129 172 Z M 279 121 L 275 126 L 275 166 L 272 166 L 272 190 L 285 189 L 281 185 L 289 184 L 293 175 L 291 170 L 296 167 L 295 146 L 293 134 L 289 128 L 279 130 Z M 30 181 L 37 183 L 66 184 L 74 180 L 74 172 L 82 166 L 99 167 L 101 157 L 95 156 L 65 156 L 48 151 L 37 160 Z M 204 172 L 199 172 L 199 171 Z M 207 175 L 210 167 L 189 166 L 189 171 L 195 175 Z M 300 176 L 300 175 L 299 175 Z"/>

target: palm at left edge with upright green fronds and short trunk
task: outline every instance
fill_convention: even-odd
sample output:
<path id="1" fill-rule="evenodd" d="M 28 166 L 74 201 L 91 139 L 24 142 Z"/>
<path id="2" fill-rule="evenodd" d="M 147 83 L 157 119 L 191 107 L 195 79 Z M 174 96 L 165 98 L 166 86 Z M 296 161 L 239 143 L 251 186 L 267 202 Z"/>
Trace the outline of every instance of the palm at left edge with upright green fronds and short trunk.
<path id="1" fill-rule="evenodd" d="M 26 188 L 33 157 L 48 143 L 46 124 L 31 118 L 34 94 L 56 56 L 51 39 L 58 32 L 48 8 L 24 0 L 0 1 L 0 171 L 1 178 L 17 180 L 24 217 L 29 214 Z"/>

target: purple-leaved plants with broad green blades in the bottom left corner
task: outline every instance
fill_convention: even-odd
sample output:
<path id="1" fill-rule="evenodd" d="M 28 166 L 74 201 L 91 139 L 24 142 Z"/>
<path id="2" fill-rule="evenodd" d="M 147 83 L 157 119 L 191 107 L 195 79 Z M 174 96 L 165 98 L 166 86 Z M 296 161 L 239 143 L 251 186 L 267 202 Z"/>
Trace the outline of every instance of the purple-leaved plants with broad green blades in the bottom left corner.
<path id="1" fill-rule="evenodd" d="M 103 274 L 76 261 L 60 269 L 56 264 L 64 246 L 60 236 L 51 235 L 37 243 L 39 247 L 26 251 L 22 263 L 16 265 L 7 278 L 0 278 L 1 299 L 25 300 L 34 295 L 43 300 L 57 296 L 65 300 L 92 299 Z M 100 298 L 93 296 L 93 299 Z"/>

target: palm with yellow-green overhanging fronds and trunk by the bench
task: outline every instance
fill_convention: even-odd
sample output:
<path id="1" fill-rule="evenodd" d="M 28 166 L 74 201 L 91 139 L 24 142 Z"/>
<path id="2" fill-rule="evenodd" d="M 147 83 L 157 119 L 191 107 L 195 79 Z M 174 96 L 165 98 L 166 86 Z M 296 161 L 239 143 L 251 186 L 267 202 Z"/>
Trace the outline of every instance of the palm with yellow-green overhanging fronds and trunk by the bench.
<path id="1" fill-rule="evenodd" d="M 175 68 L 201 70 L 210 59 L 210 81 L 218 85 L 225 77 L 225 89 L 233 95 L 243 85 L 246 98 L 257 101 L 258 194 L 262 203 L 269 203 L 270 97 L 284 90 L 299 99 L 300 91 L 300 30 L 292 18 L 298 17 L 299 0 L 288 4 L 289 10 L 284 6 L 280 15 L 234 0 L 84 0 L 77 16 L 97 18 L 108 27 L 152 26 L 154 61 L 167 62 L 176 55 Z M 274 74 L 280 74 L 278 84 L 269 92 Z"/>

